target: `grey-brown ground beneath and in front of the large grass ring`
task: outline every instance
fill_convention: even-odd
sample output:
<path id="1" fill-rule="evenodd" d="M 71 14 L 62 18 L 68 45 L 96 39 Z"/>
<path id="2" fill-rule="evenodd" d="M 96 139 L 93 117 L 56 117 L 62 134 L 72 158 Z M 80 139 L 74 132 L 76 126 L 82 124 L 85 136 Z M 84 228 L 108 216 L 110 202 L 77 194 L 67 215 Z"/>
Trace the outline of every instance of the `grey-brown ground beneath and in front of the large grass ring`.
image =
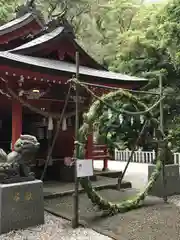
<path id="1" fill-rule="evenodd" d="M 133 189 L 126 191 L 101 190 L 104 198 L 117 202 L 134 196 Z M 116 240 L 180 240 L 180 208 L 171 204 L 180 203 L 180 197 L 169 198 L 170 204 L 164 204 L 160 198 L 149 196 L 142 208 L 101 218 L 99 212 L 93 208 L 85 194 L 80 195 L 80 218 L 90 228 Z M 45 201 L 45 207 L 50 211 L 72 218 L 72 198 L 56 198 Z"/>

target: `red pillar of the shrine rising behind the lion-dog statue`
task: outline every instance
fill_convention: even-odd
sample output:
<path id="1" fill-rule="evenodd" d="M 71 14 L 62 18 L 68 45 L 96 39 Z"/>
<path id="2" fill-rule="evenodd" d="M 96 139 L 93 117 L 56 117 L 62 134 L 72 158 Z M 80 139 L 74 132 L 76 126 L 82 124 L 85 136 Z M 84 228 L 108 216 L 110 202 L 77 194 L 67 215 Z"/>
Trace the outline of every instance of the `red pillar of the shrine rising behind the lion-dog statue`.
<path id="1" fill-rule="evenodd" d="M 14 150 L 14 144 L 22 133 L 22 106 L 21 104 L 13 100 L 12 101 L 12 150 Z"/>

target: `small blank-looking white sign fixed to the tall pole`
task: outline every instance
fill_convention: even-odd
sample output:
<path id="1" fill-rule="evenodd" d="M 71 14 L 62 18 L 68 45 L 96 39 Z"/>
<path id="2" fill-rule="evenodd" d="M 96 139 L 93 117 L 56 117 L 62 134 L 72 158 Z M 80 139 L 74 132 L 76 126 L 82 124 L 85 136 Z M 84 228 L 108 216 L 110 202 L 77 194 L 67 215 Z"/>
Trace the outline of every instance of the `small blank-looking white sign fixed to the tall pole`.
<path id="1" fill-rule="evenodd" d="M 93 176 L 93 161 L 91 159 L 77 160 L 76 171 L 78 178 Z"/>

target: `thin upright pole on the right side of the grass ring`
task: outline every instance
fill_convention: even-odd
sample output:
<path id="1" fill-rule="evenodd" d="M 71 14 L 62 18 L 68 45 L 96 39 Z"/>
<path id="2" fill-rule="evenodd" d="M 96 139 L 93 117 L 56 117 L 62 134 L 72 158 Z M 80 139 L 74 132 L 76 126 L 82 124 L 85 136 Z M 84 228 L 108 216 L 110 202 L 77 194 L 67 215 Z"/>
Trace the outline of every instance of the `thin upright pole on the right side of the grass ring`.
<path id="1" fill-rule="evenodd" d="M 163 97 L 163 84 L 162 84 L 162 76 L 159 77 L 159 96 L 160 98 Z M 162 133 L 164 133 L 164 116 L 163 116 L 163 99 L 160 101 L 159 104 L 159 111 L 160 111 L 160 129 Z M 165 172 L 165 159 L 163 159 L 163 166 L 162 166 L 162 178 L 163 178 L 163 188 L 164 188 L 164 194 L 163 194 L 163 200 L 164 202 L 167 202 L 167 194 L 166 194 L 166 186 L 167 186 L 167 179 L 166 179 L 166 172 Z"/>

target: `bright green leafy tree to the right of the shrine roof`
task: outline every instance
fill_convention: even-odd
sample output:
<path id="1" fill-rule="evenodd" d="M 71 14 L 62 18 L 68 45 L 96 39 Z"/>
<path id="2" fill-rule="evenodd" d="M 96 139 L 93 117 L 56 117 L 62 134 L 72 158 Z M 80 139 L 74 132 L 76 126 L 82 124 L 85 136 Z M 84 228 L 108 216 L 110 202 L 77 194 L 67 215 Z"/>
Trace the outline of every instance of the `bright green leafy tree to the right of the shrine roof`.
<path id="1" fill-rule="evenodd" d="M 109 41 L 107 45 L 113 51 L 112 54 L 108 53 L 105 56 L 110 70 L 149 78 L 150 82 L 144 90 L 158 92 L 159 76 L 162 76 L 166 95 L 163 108 L 165 129 L 168 130 L 171 124 L 172 131 L 176 133 L 179 125 L 173 126 L 172 121 L 180 113 L 179 5 L 180 1 L 173 1 L 167 4 L 141 6 L 138 11 L 136 10 L 131 26 L 125 31 L 120 30 L 115 40 Z M 158 99 L 151 94 L 140 97 L 150 105 Z M 156 109 L 155 115 L 159 117 L 159 108 Z M 128 132 L 131 131 L 129 128 Z"/>

